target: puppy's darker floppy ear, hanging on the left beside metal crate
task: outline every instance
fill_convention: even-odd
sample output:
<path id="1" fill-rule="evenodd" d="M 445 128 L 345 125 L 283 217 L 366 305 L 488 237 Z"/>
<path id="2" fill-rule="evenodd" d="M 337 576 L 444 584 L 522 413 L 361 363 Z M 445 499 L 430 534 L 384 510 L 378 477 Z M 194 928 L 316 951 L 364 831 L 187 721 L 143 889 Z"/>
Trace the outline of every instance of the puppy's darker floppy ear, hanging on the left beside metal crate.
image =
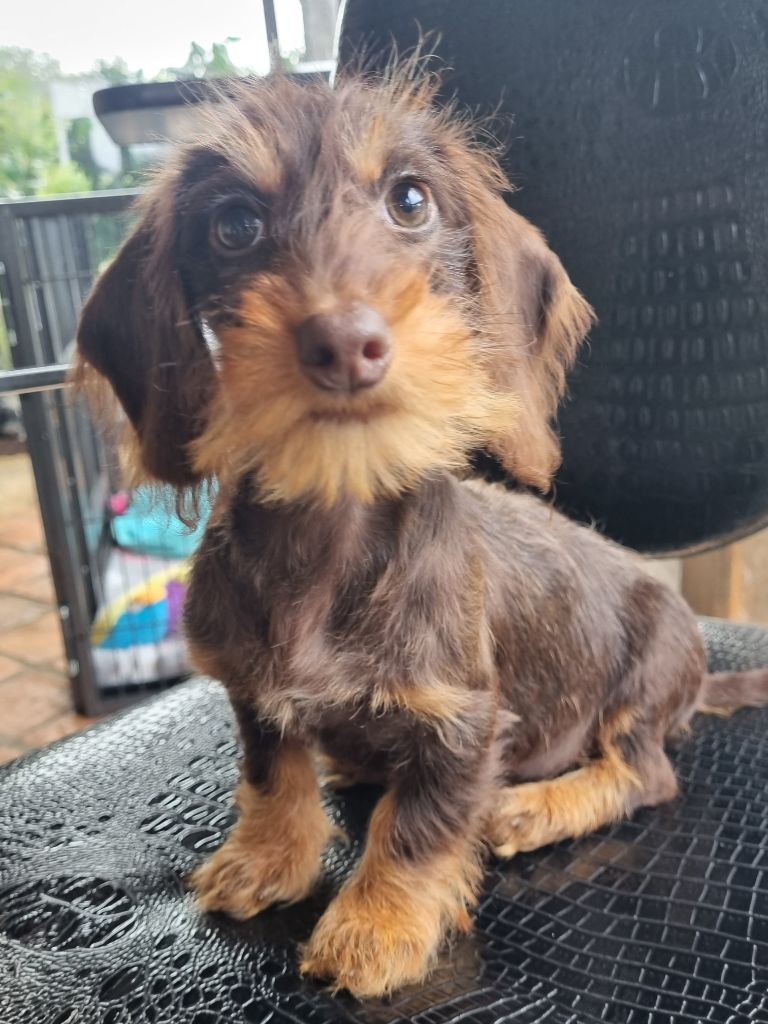
<path id="1" fill-rule="evenodd" d="M 188 444 L 215 382 L 176 270 L 172 182 L 159 181 L 143 215 L 98 278 L 78 329 L 80 367 L 105 378 L 136 433 L 141 468 L 177 487 L 194 484 Z"/>

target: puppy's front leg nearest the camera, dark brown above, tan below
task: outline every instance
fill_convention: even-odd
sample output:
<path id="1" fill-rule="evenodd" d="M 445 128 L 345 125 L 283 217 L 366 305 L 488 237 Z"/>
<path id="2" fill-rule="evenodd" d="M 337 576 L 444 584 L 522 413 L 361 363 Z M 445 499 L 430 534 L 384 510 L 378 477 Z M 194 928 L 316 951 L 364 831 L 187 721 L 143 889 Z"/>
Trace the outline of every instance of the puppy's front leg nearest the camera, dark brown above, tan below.
<path id="1" fill-rule="evenodd" d="M 477 696 L 478 703 L 483 700 Z M 374 810 L 360 862 L 304 949 L 302 971 L 357 996 L 421 980 L 451 931 L 468 931 L 492 791 L 484 735 L 425 728 Z"/>

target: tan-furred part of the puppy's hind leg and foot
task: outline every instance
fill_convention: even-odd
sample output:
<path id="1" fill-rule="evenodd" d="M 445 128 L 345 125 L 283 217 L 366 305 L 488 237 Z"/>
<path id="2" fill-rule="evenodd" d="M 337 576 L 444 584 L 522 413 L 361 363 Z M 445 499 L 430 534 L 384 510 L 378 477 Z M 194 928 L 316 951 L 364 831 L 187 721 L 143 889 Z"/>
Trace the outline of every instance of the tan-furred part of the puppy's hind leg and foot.
<path id="1" fill-rule="evenodd" d="M 642 782 L 615 746 L 634 715 L 624 709 L 600 731 L 600 756 L 559 778 L 502 790 L 486 835 L 498 857 L 537 850 L 625 817 Z"/>

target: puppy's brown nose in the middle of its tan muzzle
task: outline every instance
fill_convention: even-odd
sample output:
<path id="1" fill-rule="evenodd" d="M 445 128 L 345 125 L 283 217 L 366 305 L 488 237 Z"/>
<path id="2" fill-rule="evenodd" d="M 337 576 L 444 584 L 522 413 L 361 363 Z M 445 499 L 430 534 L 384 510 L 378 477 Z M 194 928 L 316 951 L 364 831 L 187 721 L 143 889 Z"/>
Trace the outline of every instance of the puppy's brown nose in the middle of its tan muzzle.
<path id="1" fill-rule="evenodd" d="M 378 384 L 392 358 L 389 328 L 370 306 L 308 316 L 296 331 L 304 374 L 326 391 L 357 391 Z"/>

